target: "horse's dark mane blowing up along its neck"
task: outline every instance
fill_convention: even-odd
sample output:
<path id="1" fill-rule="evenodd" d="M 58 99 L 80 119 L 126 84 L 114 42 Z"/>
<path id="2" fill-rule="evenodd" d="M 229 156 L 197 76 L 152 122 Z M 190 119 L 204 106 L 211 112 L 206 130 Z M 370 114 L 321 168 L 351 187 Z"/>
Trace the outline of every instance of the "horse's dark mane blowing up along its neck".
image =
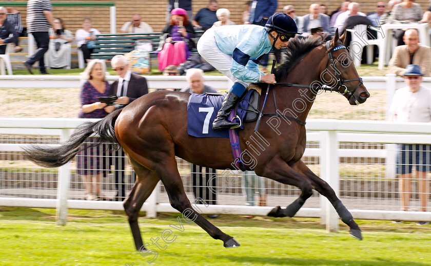
<path id="1" fill-rule="evenodd" d="M 325 40 L 325 38 L 323 38 Z M 304 38 L 296 37 L 289 40 L 287 45 L 287 55 L 285 55 L 284 63 L 277 67 L 275 71 L 276 81 L 279 82 L 287 77 L 287 73 L 298 64 L 304 56 L 309 53 L 312 49 L 323 44 L 321 38 Z"/>

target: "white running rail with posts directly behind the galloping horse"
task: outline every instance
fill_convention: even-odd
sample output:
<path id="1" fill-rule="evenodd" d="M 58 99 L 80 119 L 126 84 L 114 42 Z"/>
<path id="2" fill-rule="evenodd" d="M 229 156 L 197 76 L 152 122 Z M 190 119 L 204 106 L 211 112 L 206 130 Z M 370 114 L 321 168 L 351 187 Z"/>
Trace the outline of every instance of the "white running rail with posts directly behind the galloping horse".
<path id="1" fill-rule="evenodd" d="M 71 131 L 83 123 L 83 119 L 26 119 L 0 118 L 0 134 L 17 134 L 23 130 L 31 130 L 31 135 L 46 134 L 61 136 L 66 139 Z M 91 120 L 96 121 L 96 120 Z M 307 149 L 305 156 L 318 156 L 320 161 L 320 176 L 340 195 L 339 162 L 348 150 L 339 148 L 342 141 L 375 142 L 375 143 L 431 143 L 431 124 L 428 123 L 395 123 L 382 121 L 350 121 L 350 120 L 308 120 L 307 138 L 318 141 L 320 148 Z M 52 130 L 52 132 L 51 132 Z M 22 133 L 26 134 L 26 133 Z M 27 133 L 28 134 L 28 133 Z M 412 134 L 415 134 L 412 136 Z M 1 144 L 0 151 L 22 151 L 22 144 Z M 385 150 L 368 151 L 369 157 L 386 156 Z M 373 154 L 375 153 L 375 154 Z M 57 223 L 65 224 L 68 208 L 123 210 L 121 202 L 84 201 L 68 199 L 70 182 L 70 164 L 60 167 L 58 172 L 56 199 L 28 199 L 1 197 L 0 205 L 51 207 L 57 209 Z M 160 186 L 158 186 L 160 189 Z M 154 216 L 157 212 L 177 212 L 169 203 L 159 203 L 159 192 L 155 189 L 152 196 L 145 202 L 142 211 Z M 322 198 L 322 196 L 321 196 Z M 338 215 L 327 200 L 320 201 L 320 208 L 303 207 L 298 217 L 320 217 L 326 222 L 327 229 L 338 229 Z M 243 205 L 209 205 L 201 207 L 203 213 L 219 213 L 234 215 L 266 215 L 272 207 Z M 382 211 L 372 207 L 368 210 L 350 210 L 356 219 L 373 220 L 407 220 L 431 221 L 431 212 L 401 212 Z"/>

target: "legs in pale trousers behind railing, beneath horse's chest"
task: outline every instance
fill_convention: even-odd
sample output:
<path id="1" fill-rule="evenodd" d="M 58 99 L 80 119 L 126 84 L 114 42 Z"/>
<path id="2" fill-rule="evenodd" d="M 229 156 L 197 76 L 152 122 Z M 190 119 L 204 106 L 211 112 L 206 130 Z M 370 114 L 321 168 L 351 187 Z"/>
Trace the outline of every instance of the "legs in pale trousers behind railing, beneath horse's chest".
<path id="1" fill-rule="evenodd" d="M 266 206 L 265 184 L 262 177 L 256 175 L 253 171 L 245 171 L 242 178 L 242 187 L 244 187 L 245 204 L 254 206 L 254 194 L 259 194 L 257 205 Z M 247 215 L 245 218 L 253 218 L 252 215 Z"/>

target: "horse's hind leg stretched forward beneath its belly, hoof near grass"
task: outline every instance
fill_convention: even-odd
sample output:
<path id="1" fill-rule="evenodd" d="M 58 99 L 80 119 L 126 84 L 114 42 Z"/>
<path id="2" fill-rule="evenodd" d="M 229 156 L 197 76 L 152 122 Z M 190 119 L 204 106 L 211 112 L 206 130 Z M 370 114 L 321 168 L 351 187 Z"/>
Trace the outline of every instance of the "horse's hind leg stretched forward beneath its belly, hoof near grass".
<path id="1" fill-rule="evenodd" d="M 194 221 L 212 238 L 222 240 L 225 248 L 240 246 L 233 237 L 223 233 L 193 209 L 184 191 L 183 181 L 181 180 L 180 173 L 178 173 L 177 162 L 174 157 L 162 160 L 162 163 L 156 165 L 156 172 L 166 188 L 170 204 L 183 214 L 183 218 L 188 218 L 187 222 Z"/>

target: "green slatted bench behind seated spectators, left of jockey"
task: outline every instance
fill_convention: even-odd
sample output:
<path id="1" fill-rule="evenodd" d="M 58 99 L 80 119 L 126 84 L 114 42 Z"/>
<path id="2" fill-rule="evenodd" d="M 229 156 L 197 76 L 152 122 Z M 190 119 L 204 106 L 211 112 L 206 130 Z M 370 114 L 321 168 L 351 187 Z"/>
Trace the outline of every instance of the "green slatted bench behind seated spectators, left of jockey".
<path id="1" fill-rule="evenodd" d="M 202 30 L 196 31 L 195 43 L 202 34 Z M 136 41 L 151 41 L 153 50 L 150 52 L 150 58 L 156 60 L 157 54 L 154 52 L 159 48 L 161 35 L 162 32 L 98 34 L 91 59 L 110 60 L 117 54 L 125 54 L 134 50 Z M 193 49 L 191 52 L 197 54 L 198 50 Z"/>

